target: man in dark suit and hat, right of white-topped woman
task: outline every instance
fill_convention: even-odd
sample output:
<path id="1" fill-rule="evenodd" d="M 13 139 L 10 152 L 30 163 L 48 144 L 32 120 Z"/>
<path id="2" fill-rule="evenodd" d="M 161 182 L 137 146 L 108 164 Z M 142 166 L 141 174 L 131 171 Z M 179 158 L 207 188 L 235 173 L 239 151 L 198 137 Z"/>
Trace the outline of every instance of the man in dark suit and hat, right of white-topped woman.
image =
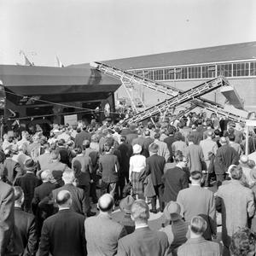
<path id="1" fill-rule="evenodd" d="M 161 177 L 164 174 L 164 168 L 166 164 L 166 160 L 163 156 L 157 154 L 159 146 L 156 143 L 152 143 L 149 145 L 149 151 L 151 152 L 151 156 L 146 160 L 146 175 L 151 173 L 152 183 L 154 185 L 155 194 L 152 198 L 151 204 L 152 209 L 150 212 L 156 213 L 156 196 L 158 196 L 159 204 L 160 204 L 160 212 L 164 210 L 164 184 L 161 180 Z"/>

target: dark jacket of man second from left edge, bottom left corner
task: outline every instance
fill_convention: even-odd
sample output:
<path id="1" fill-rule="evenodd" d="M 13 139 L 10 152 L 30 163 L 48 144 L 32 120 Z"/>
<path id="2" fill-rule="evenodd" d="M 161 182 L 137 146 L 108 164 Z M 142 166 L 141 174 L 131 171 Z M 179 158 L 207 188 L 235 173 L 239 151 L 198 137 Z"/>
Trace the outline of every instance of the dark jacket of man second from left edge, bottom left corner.
<path id="1" fill-rule="evenodd" d="M 36 218 L 15 207 L 15 224 L 20 230 L 20 236 L 25 248 L 22 255 L 34 255 L 38 251 L 38 233 L 36 229 Z"/>

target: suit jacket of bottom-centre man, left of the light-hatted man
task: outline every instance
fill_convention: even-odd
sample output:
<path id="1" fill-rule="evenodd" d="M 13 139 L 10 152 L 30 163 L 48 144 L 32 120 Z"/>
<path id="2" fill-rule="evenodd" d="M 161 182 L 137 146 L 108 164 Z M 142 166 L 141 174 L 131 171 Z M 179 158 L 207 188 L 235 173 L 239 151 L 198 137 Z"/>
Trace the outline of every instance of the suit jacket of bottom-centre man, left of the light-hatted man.
<path id="1" fill-rule="evenodd" d="M 119 256 L 164 256 L 169 243 L 165 232 L 148 227 L 135 230 L 131 235 L 119 239 Z"/>

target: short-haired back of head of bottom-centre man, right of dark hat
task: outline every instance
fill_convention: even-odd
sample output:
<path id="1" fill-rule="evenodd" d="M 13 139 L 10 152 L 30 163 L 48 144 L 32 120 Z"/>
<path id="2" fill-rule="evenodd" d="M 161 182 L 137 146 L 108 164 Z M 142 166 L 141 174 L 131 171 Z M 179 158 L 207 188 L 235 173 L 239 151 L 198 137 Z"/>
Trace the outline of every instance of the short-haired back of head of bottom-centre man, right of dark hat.
<path id="1" fill-rule="evenodd" d="M 131 216 L 136 224 L 147 224 L 149 218 L 148 204 L 143 199 L 134 201 L 131 206 Z"/>

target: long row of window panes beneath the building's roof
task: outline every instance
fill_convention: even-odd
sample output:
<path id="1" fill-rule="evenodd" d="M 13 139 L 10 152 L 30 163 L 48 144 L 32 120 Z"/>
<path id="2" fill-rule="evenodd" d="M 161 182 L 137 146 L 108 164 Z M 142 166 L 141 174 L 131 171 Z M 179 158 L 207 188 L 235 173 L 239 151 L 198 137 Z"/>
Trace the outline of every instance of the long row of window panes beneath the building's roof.
<path id="1" fill-rule="evenodd" d="M 244 77 L 256 76 L 256 62 L 241 62 L 233 64 L 218 64 L 217 76 Z M 152 80 L 173 80 L 173 79 L 211 79 L 216 74 L 215 65 L 195 67 L 172 67 L 155 70 L 140 70 L 133 73 Z"/>

